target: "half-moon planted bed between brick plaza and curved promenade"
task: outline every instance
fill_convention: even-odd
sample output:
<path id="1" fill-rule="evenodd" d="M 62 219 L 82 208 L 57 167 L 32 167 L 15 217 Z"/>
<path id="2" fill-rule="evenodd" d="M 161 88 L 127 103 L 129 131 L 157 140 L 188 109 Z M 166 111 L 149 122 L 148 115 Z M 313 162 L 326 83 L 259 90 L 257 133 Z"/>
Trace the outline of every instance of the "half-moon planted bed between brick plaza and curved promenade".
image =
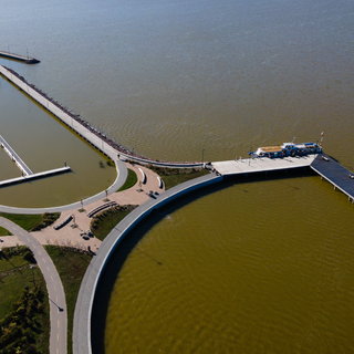
<path id="1" fill-rule="evenodd" d="M 103 240 L 135 208 L 136 206 L 119 206 L 97 214 L 91 221 L 91 231 L 97 239 Z"/>

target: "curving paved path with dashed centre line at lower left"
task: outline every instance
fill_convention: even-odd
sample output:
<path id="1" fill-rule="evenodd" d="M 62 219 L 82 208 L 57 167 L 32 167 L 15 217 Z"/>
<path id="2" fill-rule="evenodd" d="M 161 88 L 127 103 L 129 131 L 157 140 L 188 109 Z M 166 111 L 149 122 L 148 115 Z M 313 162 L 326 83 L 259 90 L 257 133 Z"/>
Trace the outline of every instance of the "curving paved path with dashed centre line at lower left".
<path id="1" fill-rule="evenodd" d="M 44 277 L 50 302 L 50 353 L 66 354 L 67 315 L 65 293 L 52 259 L 43 246 L 18 225 L 0 217 L 0 226 L 15 235 L 33 252 Z"/>

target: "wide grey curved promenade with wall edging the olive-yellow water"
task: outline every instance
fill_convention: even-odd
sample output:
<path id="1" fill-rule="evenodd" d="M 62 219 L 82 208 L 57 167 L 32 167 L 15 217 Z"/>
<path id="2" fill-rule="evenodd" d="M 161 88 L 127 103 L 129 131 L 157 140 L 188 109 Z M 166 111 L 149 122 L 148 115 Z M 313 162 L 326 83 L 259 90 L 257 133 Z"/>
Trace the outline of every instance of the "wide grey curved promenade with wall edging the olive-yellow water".
<path id="1" fill-rule="evenodd" d="M 95 296 L 95 290 L 101 273 L 119 241 L 137 223 L 148 217 L 154 210 L 167 205 L 176 198 L 201 187 L 220 183 L 222 176 L 209 174 L 180 184 L 168 189 L 156 199 L 148 200 L 133 210 L 108 233 L 100 247 L 97 254 L 91 261 L 81 283 L 74 313 L 73 352 L 75 354 L 91 354 L 91 314 Z"/>

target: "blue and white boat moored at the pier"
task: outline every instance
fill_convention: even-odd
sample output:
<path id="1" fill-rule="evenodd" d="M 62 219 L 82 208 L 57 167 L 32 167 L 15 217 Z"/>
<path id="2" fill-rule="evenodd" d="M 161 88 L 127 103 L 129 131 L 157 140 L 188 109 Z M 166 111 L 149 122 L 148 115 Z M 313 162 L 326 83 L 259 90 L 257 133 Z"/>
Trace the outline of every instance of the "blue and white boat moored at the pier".
<path id="1" fill-rule="evenodd" d="M 317 143 L 283 143 L 282 145 L 259 147 L 256 152 L 250 152 L 249 155 L 251 157 L 283 158 L 321 153 L 322 146 Z"/>

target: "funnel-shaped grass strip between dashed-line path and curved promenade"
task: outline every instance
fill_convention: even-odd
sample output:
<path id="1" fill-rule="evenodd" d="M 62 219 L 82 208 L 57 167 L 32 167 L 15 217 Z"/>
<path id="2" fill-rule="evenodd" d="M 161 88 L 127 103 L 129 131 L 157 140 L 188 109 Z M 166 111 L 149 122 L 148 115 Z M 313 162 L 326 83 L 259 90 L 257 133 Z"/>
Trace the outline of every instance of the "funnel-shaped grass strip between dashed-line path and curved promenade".
<path id="1" fill-rule="evenodd" d="M 67 353 L 72 353 L 72 331 L 76 298 L 82 278 L 92 259 L 87 253 L 55 246 L 45 247 L 63 282 L 67 306 Z"/>

